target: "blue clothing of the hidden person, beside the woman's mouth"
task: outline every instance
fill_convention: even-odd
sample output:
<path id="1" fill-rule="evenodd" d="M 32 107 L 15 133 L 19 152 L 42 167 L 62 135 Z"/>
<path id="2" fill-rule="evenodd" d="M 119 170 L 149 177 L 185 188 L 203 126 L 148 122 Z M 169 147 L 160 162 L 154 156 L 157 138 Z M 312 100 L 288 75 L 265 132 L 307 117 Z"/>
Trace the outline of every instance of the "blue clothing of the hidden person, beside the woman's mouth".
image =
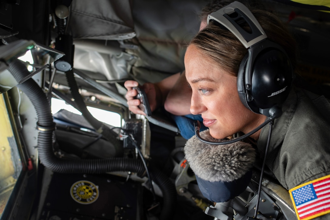
<path id="1" fill-rule="evenodd" d="M 184 115 L 184 116 L 178 116 L 178 115 L 171 115 L 171 118 L 175 121 L 177 124 L 181 136 L 188 140 L 192 136 L 195 135 L 195 126 L 194 121 L 200 121 L 201 122 L 201 128 L 200 131 L 206 130 L 207 127 L 203 125 L 203 118 L 200 115 Z"/>

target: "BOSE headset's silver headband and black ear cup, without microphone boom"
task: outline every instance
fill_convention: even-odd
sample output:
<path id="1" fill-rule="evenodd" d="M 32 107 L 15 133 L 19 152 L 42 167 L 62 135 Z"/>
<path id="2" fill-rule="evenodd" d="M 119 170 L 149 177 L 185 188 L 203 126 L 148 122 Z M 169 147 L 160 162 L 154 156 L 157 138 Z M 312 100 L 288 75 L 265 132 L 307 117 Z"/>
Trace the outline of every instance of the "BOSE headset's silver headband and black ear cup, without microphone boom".
<path id="1" fill-rule="evenodd" d="M 211 13 L 207 22 L 227 28 L 248 50 L 237 73 L 237 91 L 242 103 L 251 111 L 276 118 L 289 93 L 293 69 L 284 49 L 267 39 L 265 31 L 250 10 L 233 2 Z M 242 24 L 249 25 L 248 31 Z"/>

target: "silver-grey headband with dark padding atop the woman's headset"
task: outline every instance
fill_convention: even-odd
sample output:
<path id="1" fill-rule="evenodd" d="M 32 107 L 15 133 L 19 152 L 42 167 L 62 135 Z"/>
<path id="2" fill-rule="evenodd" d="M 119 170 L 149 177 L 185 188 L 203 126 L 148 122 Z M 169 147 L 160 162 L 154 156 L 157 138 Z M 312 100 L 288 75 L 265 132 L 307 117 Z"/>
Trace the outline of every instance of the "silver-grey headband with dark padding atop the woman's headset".
<path id="1" fill-rule="evenodd" d="M 231 14 L 235 12 L 237 14 L 235 18 L 232 18 Z M 240 27 L 238 22 L 241 19 L 244 19 L 251 27 L 251 33 L 248 33 Z M 209 23 L 210 20 L 215 20 L 225 26 L 247 49 L 267 38 L 266 33 L 250 10 L 237 1 L 211 13 L 207 18 L 207 23 Z"/>

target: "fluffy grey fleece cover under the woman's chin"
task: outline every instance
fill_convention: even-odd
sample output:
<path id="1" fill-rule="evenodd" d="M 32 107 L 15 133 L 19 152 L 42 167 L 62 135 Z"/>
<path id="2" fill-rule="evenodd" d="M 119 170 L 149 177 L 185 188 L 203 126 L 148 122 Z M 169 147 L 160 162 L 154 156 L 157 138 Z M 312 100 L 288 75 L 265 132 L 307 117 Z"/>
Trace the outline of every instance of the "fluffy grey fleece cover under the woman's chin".
<path id="1" fill-rule="evenodd" d="M 200 132 L 200 136 L 208 141 L 221 141 L 213 138 L 209 130 Z M 239 179 L 255 161 L 255 150 L 249 143 L 238 141 L 226 145 L 210 145 L 198 140 L 196 136 L 186 142 L 184 154 L 194 173 L 211 182 Z"/>

